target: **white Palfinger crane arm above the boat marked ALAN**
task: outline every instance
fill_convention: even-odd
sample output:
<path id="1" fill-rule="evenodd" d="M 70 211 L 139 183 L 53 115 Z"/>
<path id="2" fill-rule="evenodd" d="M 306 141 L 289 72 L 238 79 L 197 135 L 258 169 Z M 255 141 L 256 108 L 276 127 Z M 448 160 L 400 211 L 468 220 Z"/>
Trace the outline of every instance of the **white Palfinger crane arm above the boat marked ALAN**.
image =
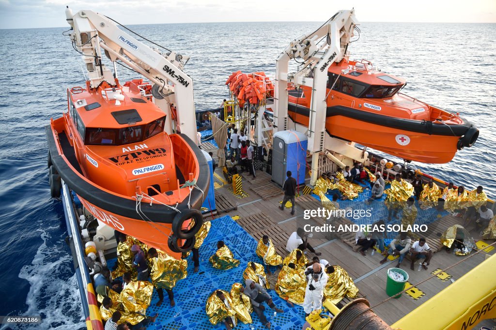
<path id="1" fill-rule="evenodd" d="M 171 105 L 177 108 L 177 125 L 181 133 L 196 141 L 193 82 L 183 71 L 188 56 L 175 52 L 162 53 L 152 49 L 117 27 L 115 21 L 91 10 L 81 10 L 75 15 L 65 9 L 67 23 L 71 26 L 70 38 L 74 48 L 83 55 L 91 88 L 103 81 L 115 85 L 112 72 L 102 63 L 102 49 L 114 63 L 122 61 L 153 83 L 155 104 L 167 114 L 165 131 L 173 133 Z"/>

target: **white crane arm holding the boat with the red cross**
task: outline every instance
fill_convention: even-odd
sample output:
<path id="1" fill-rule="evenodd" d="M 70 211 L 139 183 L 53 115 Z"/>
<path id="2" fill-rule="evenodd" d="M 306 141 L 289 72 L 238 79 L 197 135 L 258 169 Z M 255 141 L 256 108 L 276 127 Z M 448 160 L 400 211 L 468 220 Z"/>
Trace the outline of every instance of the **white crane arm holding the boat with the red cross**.
<path id="1" fill-rule="evenodd" d="M 309 138 L 308 151 L 313 155 L 311 185 L 317 180 L 319 152 L 324 151 L 326 142 L 327 69 L 332 62 L 348 59 L 348 45 L 358 24 L 354 9 L 338 11 L 317 30 L 293 40 L 276 60 L 274 132 L 288 129 L 288 82 L 296 87 L 312 87 L 310 120 L 306 132 Z M 298 72 L 288 73 L 290 59 L 301 59 Z"/>

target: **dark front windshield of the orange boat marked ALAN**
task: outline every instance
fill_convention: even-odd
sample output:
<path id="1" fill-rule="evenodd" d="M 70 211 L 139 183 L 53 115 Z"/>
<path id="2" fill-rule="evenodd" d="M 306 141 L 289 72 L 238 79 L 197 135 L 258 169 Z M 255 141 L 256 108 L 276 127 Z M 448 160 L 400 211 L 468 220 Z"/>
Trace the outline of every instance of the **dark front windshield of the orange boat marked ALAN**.
<path id="1" fill-rule="evenodd" d="M 118 146 L 146 140 L 164 131 L 165 116 L 147 125 L 129 126 L 121 129 L 86 128 L 86 145 Z"/>

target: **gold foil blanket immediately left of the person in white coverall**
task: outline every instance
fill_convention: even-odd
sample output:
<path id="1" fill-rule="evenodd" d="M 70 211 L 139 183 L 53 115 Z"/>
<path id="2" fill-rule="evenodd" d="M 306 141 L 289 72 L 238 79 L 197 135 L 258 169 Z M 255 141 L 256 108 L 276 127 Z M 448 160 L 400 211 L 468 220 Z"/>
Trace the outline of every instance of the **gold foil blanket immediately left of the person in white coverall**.
<path id="1" fill-rule="evenodd" d="M 305 300 L 307 277 L 303 268 L 283 266 L 276 283 L 276 292 L 284 300 L 302 305 Z"/>

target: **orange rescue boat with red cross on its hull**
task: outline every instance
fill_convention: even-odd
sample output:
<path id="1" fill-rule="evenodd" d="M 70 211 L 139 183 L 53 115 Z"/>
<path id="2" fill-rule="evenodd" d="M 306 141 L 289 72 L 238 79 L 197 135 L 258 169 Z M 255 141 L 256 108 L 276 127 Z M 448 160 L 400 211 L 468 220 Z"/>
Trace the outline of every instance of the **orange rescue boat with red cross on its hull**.
<path id="1" fill-rule="evenodd" d="M 332 63 L 327 133 L 422 163 L 447 163 L 457 150 L 476 142 L 479 130 L 468 120 L 400 93 L 405 85 L 405 80 L 377 71 L 370 61 Z M 289 116 L 308 126 L 311 87 L 288 90 Z"/>

